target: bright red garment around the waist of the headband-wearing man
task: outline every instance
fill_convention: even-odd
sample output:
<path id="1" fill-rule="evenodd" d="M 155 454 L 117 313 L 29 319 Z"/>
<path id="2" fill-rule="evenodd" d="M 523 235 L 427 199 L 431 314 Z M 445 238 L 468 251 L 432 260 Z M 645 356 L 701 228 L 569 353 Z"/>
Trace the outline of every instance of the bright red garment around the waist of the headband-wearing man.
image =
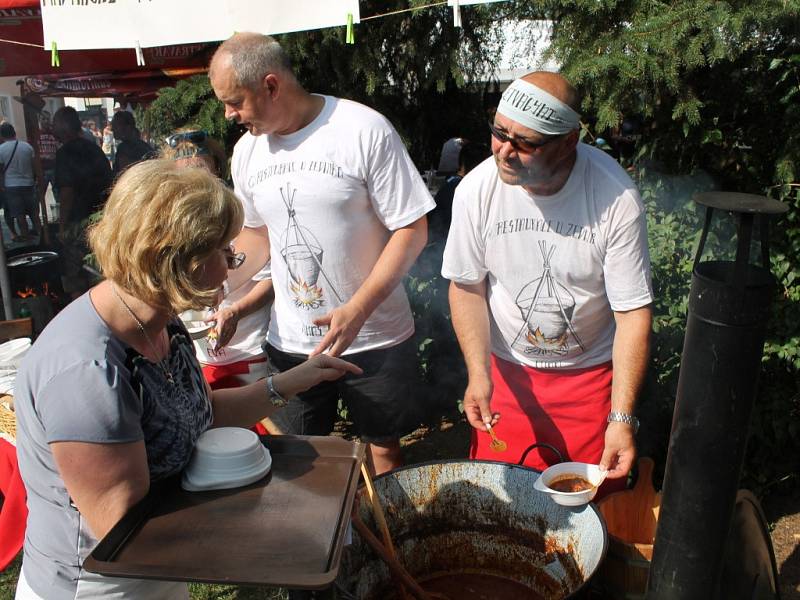
<path id="1" fill-rule="evenodd" d="M 488 433 L 472 430 L 470 458 L 517 463 L 531 444 L 554 446 L 565 461 L 597 464 L 603 456 L 611 410 L 611 363 L 585 369 L 534 369 L 491 357 L 494 430 L 504 452 L 489 448 Z M 534 448 L 525 465 L 539 471 L 559 462 L 547 448 Z M 625 487 L 625 478 L 606 480 L 604 494 Z"/>

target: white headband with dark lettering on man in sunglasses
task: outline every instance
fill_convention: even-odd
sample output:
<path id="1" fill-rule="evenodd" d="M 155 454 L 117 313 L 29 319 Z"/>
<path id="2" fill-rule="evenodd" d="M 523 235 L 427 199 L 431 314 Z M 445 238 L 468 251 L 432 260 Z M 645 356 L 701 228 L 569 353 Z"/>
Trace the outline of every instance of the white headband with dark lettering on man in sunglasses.
<path id="1" fill-rule="evenodd" d="M 497 112 L 544 135 L 561 135 L 580 127 L 578 113 L 522 79 L 515 79 L 503 92 Z"/>

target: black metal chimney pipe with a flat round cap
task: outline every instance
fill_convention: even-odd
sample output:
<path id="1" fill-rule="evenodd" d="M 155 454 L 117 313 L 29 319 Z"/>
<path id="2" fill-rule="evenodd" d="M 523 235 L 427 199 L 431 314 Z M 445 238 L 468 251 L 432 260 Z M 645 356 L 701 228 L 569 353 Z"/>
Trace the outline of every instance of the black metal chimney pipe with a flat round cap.
<path id="1" fill-rule="evenodd" d="M 647 600 L 711 600 L 719 595 L 775 289 L 767 219 L 787 210 L 777 200 L 750 194 L 709 192 L 696 194 L 694 200 L 706 206 L 706 221 L 692 272 Z M 700 262 L 714 209 L 739 218 L 733 262 Z M 749 264 L 756 217 L 761 266 Z M 743 592 L 743 598 L 750 597 Z"/>

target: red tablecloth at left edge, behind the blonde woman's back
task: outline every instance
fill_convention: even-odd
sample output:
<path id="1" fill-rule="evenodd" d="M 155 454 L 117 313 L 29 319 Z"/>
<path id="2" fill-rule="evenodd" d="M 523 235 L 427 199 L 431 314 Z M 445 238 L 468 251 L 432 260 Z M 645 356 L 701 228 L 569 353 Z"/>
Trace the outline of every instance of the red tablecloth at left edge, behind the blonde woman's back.
<path id="1" fill-rule="evenodd" d="M 25 539 L 25 521 L 28 507 L 25 505 L 25 486 L 19 475 L 17 449 L 0 438 L 0 492 L 3 507 L 0 508 L 0 571 L 14 560 L 22 549 Z"/>

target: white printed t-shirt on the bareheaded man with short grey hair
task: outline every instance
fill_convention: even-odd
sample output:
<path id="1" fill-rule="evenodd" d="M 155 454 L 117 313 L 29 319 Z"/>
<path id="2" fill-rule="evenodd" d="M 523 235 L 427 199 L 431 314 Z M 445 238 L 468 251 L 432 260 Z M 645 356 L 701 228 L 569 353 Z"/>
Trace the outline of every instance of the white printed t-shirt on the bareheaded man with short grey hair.
<path id="1" fill-rule="evenodd" d="M 266 225 L 275 302 L 268 341 L 308 354 L 314 324 L 347 302 L 392 231 L 435 206 L 392 125 L 356 102 L 324 96 L 314 121 L 288 135 L 246 133 L 231 170 L 245 226 Z M 388 348 L 414 332 L 402 285 L 378 306 L 345 354 Z"/>

